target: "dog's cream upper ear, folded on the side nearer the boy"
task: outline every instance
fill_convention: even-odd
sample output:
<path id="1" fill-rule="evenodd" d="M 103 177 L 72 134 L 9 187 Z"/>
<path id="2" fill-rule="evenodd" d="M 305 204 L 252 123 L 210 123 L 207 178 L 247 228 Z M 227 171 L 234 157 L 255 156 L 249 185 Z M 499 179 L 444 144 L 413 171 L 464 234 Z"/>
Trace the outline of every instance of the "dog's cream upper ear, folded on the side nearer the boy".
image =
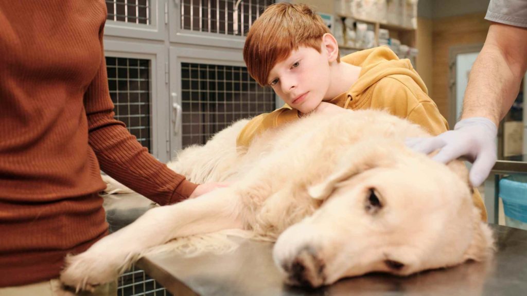
<path id="1" fill-rule="evenodd" d="M 388 150 L 389 146 L 386 144 L 384 141 L 383 143 L 366 141 L 354 145 L 353 149 L 340 157 L 332 174 L 323 182 L 308 188 L 309 196 L 317 200 L 325 200 L 333 192 L 337 183 L 374 167 L 394 163 L 395 151 Z"/>

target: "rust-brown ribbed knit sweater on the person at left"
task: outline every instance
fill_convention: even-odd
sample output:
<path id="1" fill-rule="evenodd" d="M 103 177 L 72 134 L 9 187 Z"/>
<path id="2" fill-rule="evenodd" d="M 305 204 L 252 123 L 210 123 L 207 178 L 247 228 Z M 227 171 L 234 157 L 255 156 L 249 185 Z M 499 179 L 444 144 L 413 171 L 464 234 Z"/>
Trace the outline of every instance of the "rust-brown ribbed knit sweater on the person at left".
<path id="1" fill-rule="evenodd" d="M 196 188 L 113 119 L 105 19 L 104 0 L 0 1 L 0 287 L 106 234 L 100 167 L 160 204 Z"/>

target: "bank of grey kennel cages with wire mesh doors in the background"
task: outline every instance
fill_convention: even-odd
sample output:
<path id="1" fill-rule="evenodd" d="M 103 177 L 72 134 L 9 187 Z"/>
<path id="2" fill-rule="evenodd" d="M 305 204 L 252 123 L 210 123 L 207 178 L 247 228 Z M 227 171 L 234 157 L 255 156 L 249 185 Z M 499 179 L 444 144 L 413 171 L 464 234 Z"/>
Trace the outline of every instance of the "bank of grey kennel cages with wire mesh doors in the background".
<path id="1" fill-rule="evenodd" d="M 252 80 L 242 66 L 240 46 L 252 22 L 272 3 L 275 1 L 106 0 L 105 56 L 115 118 L 150 153 L 167 161 L 169 150 L 203 144 L 233 121 L 274 110 L 275 94 Z M 223 43 L 215 42 L 217 36 Z M 186 59 L 173 55 L 173 48 L 196 44 L 217 55 L 223 55 L 227 47 L 239 60 L 203 61 L 192 56 L 193 51 Z M 174 114 L 167 111 L 173 92 L 181 98 L 178 141 L 164 134 L 173 120 Z M 165 141 L 167 152 L 163 154 Z M 135 266 L 121 275 L 118 285 L 119 296 L 170 295 Z"/>

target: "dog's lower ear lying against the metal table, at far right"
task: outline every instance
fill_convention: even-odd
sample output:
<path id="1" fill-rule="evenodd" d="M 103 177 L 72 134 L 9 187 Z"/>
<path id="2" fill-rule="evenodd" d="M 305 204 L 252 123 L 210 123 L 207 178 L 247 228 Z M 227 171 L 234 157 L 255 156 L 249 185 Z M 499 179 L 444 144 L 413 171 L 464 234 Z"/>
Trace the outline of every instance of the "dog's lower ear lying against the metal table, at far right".
<path id="1" fill-rule="evenodd" d="M 464 260 L 483 261 L 489 258 L 495 250 L 494 238 L 489 225 L 481 221 L 480 210 L 473 209 L 472 241 L 464 254 Z"/>

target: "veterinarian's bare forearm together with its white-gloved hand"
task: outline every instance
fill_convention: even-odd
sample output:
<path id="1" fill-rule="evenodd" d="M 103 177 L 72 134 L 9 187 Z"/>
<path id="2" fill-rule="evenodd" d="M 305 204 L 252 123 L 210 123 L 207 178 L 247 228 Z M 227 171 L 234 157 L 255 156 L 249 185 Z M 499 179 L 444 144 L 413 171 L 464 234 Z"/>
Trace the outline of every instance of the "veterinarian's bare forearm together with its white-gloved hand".
<path id="1" fill-rule="evenodd" d="M 518 95 L 527 69 L 527 28 L 493 23 L 481 53 L 469 76 L 463 114 L 454 131 L 431 139 L 410 139 L 415 151 L 431 153 L 440 162 L 464 156 L 474 163 L 472 185 L 479 186 L 496 162 L 496 135 L 499 121 Z"/>

